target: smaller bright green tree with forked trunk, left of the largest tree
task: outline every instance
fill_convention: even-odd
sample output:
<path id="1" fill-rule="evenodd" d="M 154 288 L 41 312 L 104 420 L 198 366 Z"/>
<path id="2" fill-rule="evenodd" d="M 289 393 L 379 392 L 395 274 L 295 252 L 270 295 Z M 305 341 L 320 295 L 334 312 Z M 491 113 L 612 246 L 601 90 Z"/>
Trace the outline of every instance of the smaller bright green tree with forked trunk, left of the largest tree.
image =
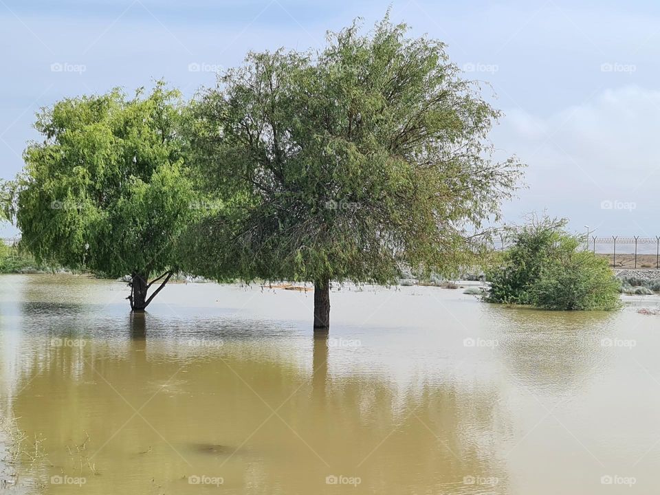
<path id="1" fill-rule="evenodd" d="M 162 82 L 148 96 L 115 89 L 39 113 L 43 141 L 25 150 L 15 186 L 21 243 L 37 261 L 131 274 L 127 299 L 144 311 L 177 270 L 177 238 L 194 214 L 181 115 L 178 92 Z"/>

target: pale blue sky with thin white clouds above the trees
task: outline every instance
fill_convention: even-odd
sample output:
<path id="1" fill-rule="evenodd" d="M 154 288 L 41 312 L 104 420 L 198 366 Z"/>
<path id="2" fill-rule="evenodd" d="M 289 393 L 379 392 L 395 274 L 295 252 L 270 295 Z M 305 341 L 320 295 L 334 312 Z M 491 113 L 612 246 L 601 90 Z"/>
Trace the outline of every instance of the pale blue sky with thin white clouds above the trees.
<path id="1" fill-rule="evenodd" d="M 503 111 L 490 139 L 527 164 L 505 221 L 660 235 L 660 3 L 641 0 L 0 0 L 0 177 L 23 168 L 40 107 L 158 78 L 193 96 L 250 50 L 321 47 L 388 7 Z"/>

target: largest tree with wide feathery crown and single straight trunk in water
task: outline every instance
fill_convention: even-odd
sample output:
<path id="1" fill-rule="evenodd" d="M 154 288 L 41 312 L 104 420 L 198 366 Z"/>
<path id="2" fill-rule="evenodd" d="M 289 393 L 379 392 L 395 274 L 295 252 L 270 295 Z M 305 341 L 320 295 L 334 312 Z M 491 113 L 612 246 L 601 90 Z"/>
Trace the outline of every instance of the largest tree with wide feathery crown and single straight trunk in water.
<path id="1" fill-rule="evenodd" d="M 437 41 L 388 17 L 318 53 L 249 54 L 195 103 L 207 186 L 234 198 L 197 226 L 190 270 L 310 281 L 329 327 L 330 281 L 391 283 L 401 263 L 451 270 L 465 233 L 520 175 L 485 140 L 498 111 Z M 238 198 L 238 199 L 237 199 Z"/>

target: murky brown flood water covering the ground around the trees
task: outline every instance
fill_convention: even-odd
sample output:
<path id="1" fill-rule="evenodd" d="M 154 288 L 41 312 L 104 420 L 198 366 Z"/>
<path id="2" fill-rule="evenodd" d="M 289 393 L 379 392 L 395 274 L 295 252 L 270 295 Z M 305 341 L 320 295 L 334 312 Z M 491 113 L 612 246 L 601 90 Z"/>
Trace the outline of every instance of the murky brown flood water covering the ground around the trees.
<path id="1" fill-rule="evenodd" d="M 311 292 L 173 284 L 144 316 L 126 296 L 0 277 L 30 493 L 660 491 L 660 316 L 637 312 L 657 298 L 570 314 L 344 288 L 314 336 Z"/>

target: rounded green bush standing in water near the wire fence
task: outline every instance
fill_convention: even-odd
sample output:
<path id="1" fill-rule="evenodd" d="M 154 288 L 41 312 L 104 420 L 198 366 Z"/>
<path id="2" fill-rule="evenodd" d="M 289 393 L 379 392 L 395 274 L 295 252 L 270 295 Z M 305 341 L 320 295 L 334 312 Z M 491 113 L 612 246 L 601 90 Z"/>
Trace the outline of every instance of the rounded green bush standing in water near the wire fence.
<path id="1" fill-rule="evenodd" d="M 580 238 L 564 230 L 566 220 L 531 217 L 512 228 L 514 241 L 487 270 L 486 300 L 544 309 L 615 309 L 619 282 L 608 262 L 582 252 Z"/>

